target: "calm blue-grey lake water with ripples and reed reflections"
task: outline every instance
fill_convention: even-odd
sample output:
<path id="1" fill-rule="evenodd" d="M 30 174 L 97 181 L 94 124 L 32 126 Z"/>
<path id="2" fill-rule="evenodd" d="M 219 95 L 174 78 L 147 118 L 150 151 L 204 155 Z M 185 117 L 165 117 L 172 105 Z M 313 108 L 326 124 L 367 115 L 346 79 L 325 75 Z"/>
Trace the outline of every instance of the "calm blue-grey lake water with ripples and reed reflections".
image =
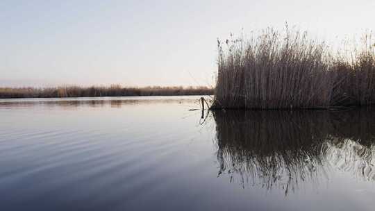
<path id="1" fill-rule="evenodd" d="M 374 210 L 375 111 L 0 100 L 0 210 Z"/>

